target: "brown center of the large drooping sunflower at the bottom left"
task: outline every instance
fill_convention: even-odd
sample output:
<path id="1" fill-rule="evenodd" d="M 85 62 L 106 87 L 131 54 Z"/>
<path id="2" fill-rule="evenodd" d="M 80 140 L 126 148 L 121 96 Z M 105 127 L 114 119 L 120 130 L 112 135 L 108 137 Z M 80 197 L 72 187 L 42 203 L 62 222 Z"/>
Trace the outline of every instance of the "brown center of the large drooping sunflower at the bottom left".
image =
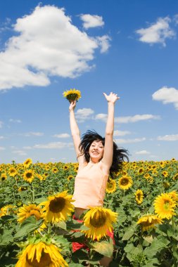
<path id="1" fill-rule="evenodd" d="M 30 266 L 32 267 L 46 267 L 46 266 L 51 265 L 51 263 L 53 263 L 51 261 L 51 257 L 49 256 L 49 254 L 44 252 L 44 249 L 42 250 L 42 255 L 41 255 L 39 262 L 36 259 L 36 252 L 34 255 L 34 259 L 32 261 L 31 259 L 28 259 L 27 256 L 26 256 L 26 260 L 27 260 L 27 263 L 29 263 Z"/>

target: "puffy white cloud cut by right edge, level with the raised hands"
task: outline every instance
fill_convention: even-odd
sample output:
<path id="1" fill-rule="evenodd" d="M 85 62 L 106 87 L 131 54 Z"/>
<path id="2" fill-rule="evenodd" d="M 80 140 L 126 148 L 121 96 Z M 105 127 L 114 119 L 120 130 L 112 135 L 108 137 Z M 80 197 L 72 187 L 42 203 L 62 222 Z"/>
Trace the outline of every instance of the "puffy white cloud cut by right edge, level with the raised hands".
<path id="1" fill-rule="evenodd" d="M 172 103 L 178 110 L 178 90 L 174 87 L 162 87 L 152 95 L 153 100 L 162 101 L 163 104 Z"/>

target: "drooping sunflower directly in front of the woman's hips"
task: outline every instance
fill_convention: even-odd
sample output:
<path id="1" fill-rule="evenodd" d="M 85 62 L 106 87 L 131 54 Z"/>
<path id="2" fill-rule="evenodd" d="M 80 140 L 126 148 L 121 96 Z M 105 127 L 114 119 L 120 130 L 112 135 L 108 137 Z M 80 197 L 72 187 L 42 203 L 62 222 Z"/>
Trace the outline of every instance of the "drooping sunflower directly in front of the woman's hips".
<path id="1" fill-rule="evenodd" d="M 113 229 L 112 223 L 115 223 L 117 213 L 103 207 L 90 207 L 84 215 L 84 226 L 89 230 L 82 230 L 87 237 L 92 240 L 100 240 L 105 237 L 107 231 Z"/>

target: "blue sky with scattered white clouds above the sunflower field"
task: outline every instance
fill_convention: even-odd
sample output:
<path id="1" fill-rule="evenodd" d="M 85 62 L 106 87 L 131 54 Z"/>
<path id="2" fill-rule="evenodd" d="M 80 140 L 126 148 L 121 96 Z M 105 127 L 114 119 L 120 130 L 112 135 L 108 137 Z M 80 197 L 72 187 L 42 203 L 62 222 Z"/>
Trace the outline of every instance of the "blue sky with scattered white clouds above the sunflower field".
<path id="1" fill-rule="evenodd" d="M 178 159 L 177 0 L 0 2 L 0 164 L 76 162 L 68 101 L 81 133 L 114 139 L 130 161 Z"/>

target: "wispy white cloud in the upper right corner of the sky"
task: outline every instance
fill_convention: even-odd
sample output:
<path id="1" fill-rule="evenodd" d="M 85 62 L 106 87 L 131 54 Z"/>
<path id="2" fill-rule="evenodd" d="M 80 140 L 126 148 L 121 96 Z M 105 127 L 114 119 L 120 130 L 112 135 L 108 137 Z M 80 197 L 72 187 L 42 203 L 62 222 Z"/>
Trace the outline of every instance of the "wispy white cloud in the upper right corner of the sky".
<path id="1" fill-rule="evenodd" d="M 148 44 L 161 43 L 166 46 L 165 40 L 167 38 L 172 39 L 175 36 L 175 32 L 170 28 L 170 18 L 158 18 L 157 22 L 150 27 L 141 28 L 136 30 L 137 34 L 140 34 L 139 41 L 143 41 Z"/>

